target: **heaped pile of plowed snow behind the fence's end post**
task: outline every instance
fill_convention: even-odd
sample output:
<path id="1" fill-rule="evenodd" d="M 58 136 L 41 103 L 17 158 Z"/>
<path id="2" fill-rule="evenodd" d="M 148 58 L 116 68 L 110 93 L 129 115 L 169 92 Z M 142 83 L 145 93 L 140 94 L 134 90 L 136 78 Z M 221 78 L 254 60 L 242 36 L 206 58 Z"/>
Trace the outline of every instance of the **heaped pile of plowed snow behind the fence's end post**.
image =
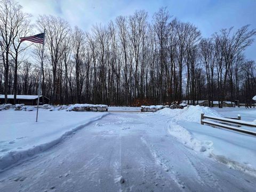
<path id="1" fill-rule="evenodd" d="M 220 117 L 220 114 L 217 111 L 209 107 L 201 107 L 199 105 L 188 106 L 184 109 L 164 108 L 156 112 L 156 115 L 166 115 L 174 118 L 175 120 L 183 120 L 197 123 L 200 123 L 201 121 L 201 114 Z"/>

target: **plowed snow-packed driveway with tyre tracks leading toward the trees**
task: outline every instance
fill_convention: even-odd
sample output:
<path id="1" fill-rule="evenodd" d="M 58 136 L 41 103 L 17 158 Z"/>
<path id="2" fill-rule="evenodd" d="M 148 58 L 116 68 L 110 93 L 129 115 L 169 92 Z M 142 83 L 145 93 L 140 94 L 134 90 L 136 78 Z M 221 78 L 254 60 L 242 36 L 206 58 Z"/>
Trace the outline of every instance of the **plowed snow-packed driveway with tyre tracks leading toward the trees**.
<path id="1" fill-rule="evenodd" d="M 0 191 L 255 191 L 256 178 L 175 140 L 169 120 L 110 114 L 0 173 Z"/>

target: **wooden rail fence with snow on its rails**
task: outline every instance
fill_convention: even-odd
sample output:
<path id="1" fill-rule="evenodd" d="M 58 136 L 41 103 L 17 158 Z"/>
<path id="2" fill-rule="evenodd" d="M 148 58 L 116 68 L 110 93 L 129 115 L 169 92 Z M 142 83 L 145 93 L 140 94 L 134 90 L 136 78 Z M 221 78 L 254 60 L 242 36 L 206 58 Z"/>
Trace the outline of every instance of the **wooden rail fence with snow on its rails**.
<path id="1" fill-rule="evenodd" d="M 206 120 L 210 119 L 210 120 Z M 212 121 L 214 120 L 214 121 Z M 256 136 L 256 130 L 251 131 L 251 130 L 246 130 L 242 129 L 241 126 L 248 126 L 248 127 L 254 127 L 256 128 L 256 124 L 252 122 L 246 122 L 241 120 L 241 116 L 237 116 L 236 118 L 229 118 L 229 117 L 214 117 L 214 116 L 209 116 L 209 115 L 204 115 L 201 114 L 201 124 L 209 124 L 233 131 L 238 131 L 250 135 L 255 135 Z"/>

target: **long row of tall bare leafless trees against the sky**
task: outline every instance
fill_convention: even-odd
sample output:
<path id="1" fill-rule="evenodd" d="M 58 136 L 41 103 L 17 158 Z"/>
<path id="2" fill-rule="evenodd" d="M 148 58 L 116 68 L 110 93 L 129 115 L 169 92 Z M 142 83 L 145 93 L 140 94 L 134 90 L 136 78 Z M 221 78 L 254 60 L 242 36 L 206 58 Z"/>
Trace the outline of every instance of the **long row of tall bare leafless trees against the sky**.
<path id="1" fill-rule="evenodd" d="M 152 104 L 188 100 L 251 102 L 255 61 L 244 51 L 255 29 L 221 29 L 209 38 L 166 8 L 119 16 L 90 31 L 52 15 L 31 15 L 13 0 L 0 0 L 0 93 L 37 94 L 41 44 L 19 38 L 46 29 L 42 94 L 52 104 Z M 140 104 L 143 104 L 142 102 Z"/>

